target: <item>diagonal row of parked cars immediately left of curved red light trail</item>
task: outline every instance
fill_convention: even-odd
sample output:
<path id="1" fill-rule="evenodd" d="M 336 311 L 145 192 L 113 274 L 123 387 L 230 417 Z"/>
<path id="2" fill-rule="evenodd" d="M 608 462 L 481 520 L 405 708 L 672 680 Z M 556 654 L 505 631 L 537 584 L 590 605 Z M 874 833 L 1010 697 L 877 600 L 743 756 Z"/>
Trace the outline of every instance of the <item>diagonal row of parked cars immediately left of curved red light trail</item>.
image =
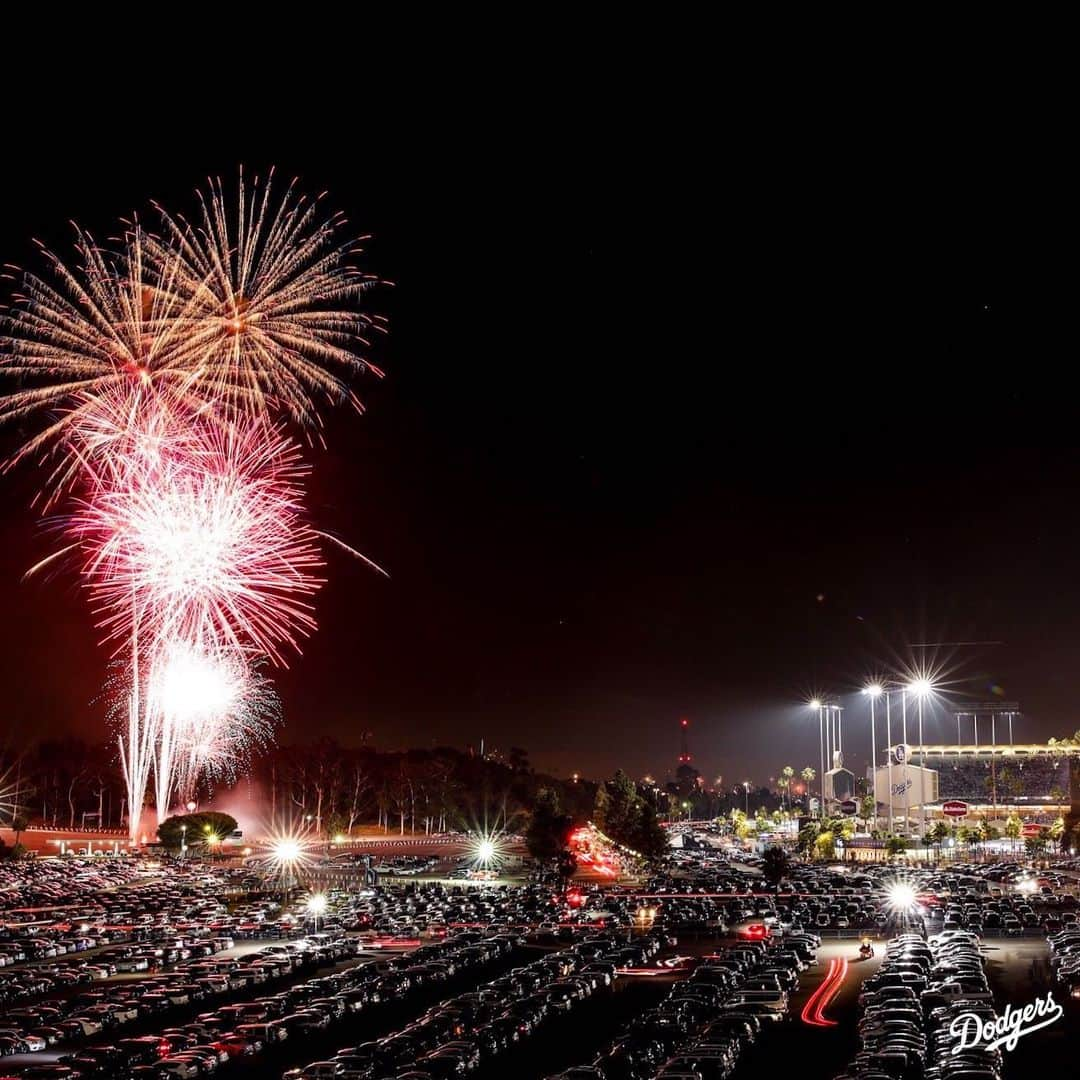
<path id="1" fill-rule="evenodd" d="M 787 1018 L 789 995 L 818 962 L 820 945 L 816 934 L 805 932 L 707 955 L 591 1064 L 549 1080 L 726 1080 L 755 1042 Z"/>

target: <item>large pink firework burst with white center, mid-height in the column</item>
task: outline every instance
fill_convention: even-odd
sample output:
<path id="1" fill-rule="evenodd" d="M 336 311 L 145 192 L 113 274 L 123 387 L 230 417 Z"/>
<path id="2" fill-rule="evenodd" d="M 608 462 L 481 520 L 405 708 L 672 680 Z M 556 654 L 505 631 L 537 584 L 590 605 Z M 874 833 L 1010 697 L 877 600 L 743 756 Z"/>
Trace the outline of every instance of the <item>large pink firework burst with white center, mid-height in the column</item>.
<path id="1" fill-rule="evenodd" d="M 296 445 L 254 423 L 189 426 L 110 459 L 68 528 L 107 640 L 218 642 L 284 664 L 322 578 Z"/>

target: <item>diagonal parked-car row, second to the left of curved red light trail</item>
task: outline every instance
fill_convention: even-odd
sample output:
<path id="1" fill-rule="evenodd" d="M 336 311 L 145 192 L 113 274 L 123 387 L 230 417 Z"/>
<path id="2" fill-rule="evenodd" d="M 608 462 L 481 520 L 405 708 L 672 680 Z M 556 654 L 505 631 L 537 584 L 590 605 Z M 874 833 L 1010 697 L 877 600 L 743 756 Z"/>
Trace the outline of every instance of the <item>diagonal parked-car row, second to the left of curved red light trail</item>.
<path id="1" fill-rule="evenodd" d="M 659 939 L 627 944 L 610 932 L 582 930 L 581 939 L 517 967 L 468 994 L 433 1005 L 386 1038 L 338 1051 L 333 1059 L 292 1069 L 284 1080 L 445 1080 L 498 1067 L 521 1044 L 610 987 L 620 966 L 644 963 Z M 413 954 L 424 959 L 423 946 Z M 495 1063 L 495 1064 L 492 1064 Z M 508 1067 L 508 1076 L 513 1075 Z"/>

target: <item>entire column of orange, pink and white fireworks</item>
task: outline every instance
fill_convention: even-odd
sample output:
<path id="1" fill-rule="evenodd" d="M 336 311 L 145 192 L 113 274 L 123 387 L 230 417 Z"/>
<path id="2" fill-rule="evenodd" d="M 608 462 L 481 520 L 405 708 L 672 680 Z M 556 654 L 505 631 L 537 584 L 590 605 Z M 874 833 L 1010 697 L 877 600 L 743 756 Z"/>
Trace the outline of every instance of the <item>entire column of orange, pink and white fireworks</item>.
<path id="1" fill-rule="evenodd" d="M 307 523 L 275 418 L 310 431 L 324 404 L 360 407 L 350 380 L 381 375 L 366 352 L 384 320 L 360 310 L 376 279 L 294 185 L 276 198 L 241 175 L 234 204 L 217 181 L 200 207 L 157 207 L 160 234 L 126 222 L 111 247 L 77 230 L 71 266 L 43 248 L 48 271 L 21 276 L 0 321 L 0 423 L 49 417 L 6 464 L 48 460 L 42 505 L 75 504 L 71 542 L 29 572 L 77 553 L 126 658 L 111 697 L 133 838 L 151 779 L 162 819 L 270 737 L 259 667 L 314 630 L 320 540 L 375 566 Z M 294 873 L 302 843 L 279 839 Z"/>

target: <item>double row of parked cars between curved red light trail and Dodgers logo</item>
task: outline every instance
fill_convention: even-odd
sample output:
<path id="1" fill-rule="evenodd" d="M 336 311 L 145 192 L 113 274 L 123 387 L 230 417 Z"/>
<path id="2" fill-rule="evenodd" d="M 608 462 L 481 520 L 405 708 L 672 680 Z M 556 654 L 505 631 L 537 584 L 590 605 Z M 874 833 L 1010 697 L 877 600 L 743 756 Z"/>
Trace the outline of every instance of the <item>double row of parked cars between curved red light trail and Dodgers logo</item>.
<path id="1" fill-rule="evenodd" d="M 861 1049 L 837 1080 L 1000 1080 L 1001 1053 L 960 1045 L 961 1013 L 995 1020 L 978 939 L 901 933 L 859 996 Z"/>

